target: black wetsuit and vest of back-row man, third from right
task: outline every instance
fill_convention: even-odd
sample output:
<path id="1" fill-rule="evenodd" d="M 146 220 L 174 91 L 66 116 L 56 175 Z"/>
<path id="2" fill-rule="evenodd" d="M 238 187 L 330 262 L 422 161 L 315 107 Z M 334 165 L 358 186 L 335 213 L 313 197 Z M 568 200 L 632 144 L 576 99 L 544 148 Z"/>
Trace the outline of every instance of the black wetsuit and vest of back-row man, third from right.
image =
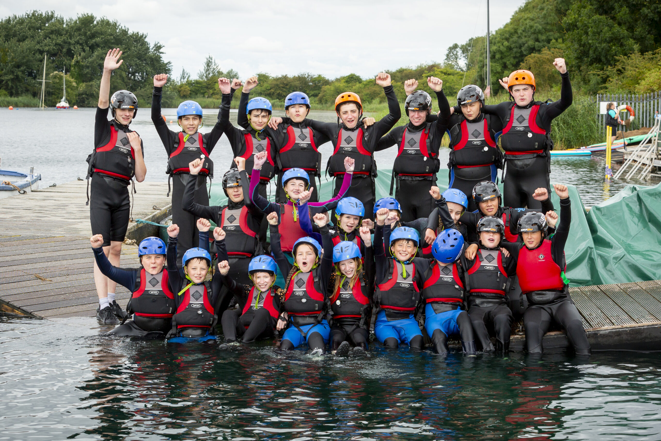
<path id="1" fill-rule="evenodd" d="M 449 104 L 443 91 L 436 93 L 440 118 L 425 121 L 420 126 L 408 122 L 393 128 L 377 143 L 375 151 L 397 145 L 399 152 L 393 165 L 393 180 L 397 180 L 395 199 L 399 201 L 403 221 L 426 218 L 434 210 L 434 198 L 429 194 L 436 185 L 436 172 L 440 169 L 438 151 L 446 132 Z M 405 139 L 406 138 L 406 139 Z M 425 145 L 422 145 L 425 140 Z M 390 194 L 393 194 L 391 182 Z"/>

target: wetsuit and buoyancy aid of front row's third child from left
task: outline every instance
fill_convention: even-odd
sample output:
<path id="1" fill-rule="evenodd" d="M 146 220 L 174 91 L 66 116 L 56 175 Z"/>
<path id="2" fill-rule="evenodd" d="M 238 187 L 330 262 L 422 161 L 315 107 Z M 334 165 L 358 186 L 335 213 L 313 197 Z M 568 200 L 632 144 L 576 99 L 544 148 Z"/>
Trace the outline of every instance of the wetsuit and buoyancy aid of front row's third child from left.
<path id="1" fill-rule="evenodd" d="M 245 343 L 273 337 L 280 305 L 285 296 L 282 288 L 272 286 L 268 292 L 263 293 L 258 292 L 255 286 L 237 284 L 233 278 L 229 277 L 229 274 L 227 276 L 221 274 L 220 278 L 239 303 L 237 309 L 228 309 L 223 312 L 221 325 L 223 326 L 225 341 L 235 341 L 237 336 L 241 337 Z M 253 298 L 251 296 L 253 288 L 256 296 L 254 300 L 257 303 L 256 307 L 246 305 L 247 301 Z M 272 311 L 264 306 L 266 301 L 270 301 L 273 305 Z M 275 313 L 275 317 L 272 312 Z"/>

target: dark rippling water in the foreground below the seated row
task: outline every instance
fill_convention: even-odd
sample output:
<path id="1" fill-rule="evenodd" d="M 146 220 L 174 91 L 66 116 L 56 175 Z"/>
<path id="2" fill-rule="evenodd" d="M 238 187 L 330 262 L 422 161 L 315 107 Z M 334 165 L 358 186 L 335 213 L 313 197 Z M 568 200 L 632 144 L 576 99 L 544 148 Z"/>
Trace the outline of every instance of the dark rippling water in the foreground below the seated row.
<path id="1" fill-rule="evenodd" d="M 658 439 L 661 427 L 657 354 L 338 359 L 100 331 L 0 319 L 0 439 Z"/>

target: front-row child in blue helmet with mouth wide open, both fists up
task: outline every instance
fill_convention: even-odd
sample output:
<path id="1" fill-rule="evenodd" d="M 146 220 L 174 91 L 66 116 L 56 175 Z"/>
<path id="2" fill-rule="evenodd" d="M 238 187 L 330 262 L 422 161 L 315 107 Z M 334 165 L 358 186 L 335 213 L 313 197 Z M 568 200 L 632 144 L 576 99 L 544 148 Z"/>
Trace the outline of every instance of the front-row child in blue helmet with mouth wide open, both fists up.
<path id="1" fill-rule="evenodd" d="M 285 294 L 276 329 L 286 329 L 280 341 L 280 348 L 290 350 L 307 344 L 311 350 L 325 351 L 331 328 L 326 319 L 328 312 L 327 286 L 332 268 L 332 242 L 325 239 L 324 252 L 313 237 L 299 238 L 293 244 L 293 264 L 280 249 L 278 214 L 269 214 L 271 252 L 280 272 L 285 276 Z M 315 215 L 315 223 L 322 236 L 329 236 L 326 217 Z"/>

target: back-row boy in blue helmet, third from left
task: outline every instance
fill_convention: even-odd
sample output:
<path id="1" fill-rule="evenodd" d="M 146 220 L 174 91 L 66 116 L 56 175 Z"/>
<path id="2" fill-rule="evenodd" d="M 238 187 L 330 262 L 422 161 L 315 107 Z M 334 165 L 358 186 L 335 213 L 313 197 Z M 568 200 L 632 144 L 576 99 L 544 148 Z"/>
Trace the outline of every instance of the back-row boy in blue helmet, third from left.
<path id="1" fill-rule="evenodd" d="M 227 113 L 221 114 L 219 124 L 223 126 L 234 157 L 245 159 L 245 170 L 249 179 L 251 182 L 254 181 L 259 194 L 266 198 L 266 186 L 276 174 L 276 152 L 280 149 L 278 138 L 267 126 L 273 107 L 266 98 L 250 99 L 250 91 L 259 83 L 257 77 L 250 77 L 246 80 L 245 85 L 238 79 L 230 82 L 227 78 L 219 79 L 218 83 L 223 94 L 221 108 L 227 108 Z M 237 116 L 237 122 L 241 128 L 236 128 L 229 122 L 229 107 L 235 89 L 239 89 L 241 86 L 243 86 L 243 92 L 239 101 L 239 116 Z M 253 178 L 254 157 L 262 151 L 266 152 L 266 161 L 258 176 Z M 236 165 L 232 164 L 231 167 L 234 169 Z"/>

